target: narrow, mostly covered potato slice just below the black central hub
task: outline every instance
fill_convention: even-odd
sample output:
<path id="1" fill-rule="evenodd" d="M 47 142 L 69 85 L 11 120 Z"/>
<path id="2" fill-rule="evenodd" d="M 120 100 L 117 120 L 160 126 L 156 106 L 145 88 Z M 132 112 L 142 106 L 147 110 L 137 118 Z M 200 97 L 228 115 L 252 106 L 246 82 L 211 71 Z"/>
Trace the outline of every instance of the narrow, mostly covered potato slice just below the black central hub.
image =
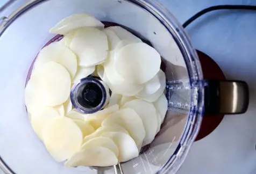
<path id="1" fill-rule="evenodd" d="M 119 106 L 113 105 L 110 107 L 106 107 L 101 111 L 98 111 L 96 113 L 93 114 L 84 114 L 85 117 L 85 121 L 88 121 L 90 123 L 91 126 L 93 126 L 95 129 L 101 127 L 101 123 L 102 121 L 108 117 L 109 114 L 111 114 L 112 112 L 118 111 L 119 110 Z"/>

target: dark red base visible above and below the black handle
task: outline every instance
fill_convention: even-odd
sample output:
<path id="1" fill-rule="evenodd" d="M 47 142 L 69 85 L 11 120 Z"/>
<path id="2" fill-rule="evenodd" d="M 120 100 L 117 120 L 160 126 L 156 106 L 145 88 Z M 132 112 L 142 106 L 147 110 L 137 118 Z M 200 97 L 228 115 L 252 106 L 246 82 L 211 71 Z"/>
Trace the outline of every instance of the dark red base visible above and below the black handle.
<path id="1" fill-rule="evenodd" d="M 199 50 L 197 50 L 197 54 L 201 62 L 204 79 L 226 79 L 221 68 L 219 68 L 218 64 L 214 60 L 212 60 L 211 57 L 200 52 Z M 221 123 L 223 117 L 223 114 L 203 117 L 200 132 L 196 137 L 196 141 L 203 139 L 205 136 L 209 135 L 212 131 L 214 131 Z"/>

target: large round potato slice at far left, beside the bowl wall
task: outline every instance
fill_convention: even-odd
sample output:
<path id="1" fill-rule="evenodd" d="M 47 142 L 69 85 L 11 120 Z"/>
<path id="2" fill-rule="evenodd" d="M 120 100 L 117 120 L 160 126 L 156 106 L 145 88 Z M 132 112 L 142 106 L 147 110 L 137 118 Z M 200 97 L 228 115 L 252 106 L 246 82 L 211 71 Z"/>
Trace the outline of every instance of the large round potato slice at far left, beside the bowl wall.
<path id="1" fill-rule="evenodd" d="M 31 76 L 29 89 L 25 90 L 26 105 L 29 107 L 33 102 L 43 106 L 60 105 L 68 99 L 70 85 L 70 75 L 59 63 L 41 64 Z"/>

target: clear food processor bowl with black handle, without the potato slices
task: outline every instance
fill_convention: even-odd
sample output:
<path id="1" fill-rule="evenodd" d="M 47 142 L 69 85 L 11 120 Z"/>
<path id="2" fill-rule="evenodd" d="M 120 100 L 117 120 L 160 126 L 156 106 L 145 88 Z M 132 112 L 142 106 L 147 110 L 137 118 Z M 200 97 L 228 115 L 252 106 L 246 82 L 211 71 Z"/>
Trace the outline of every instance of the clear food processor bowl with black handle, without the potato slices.
<path id="1" fill-rule="evenodd" d="M 1 168 L 6 173 L 117 173 L 116 168 L 67 168 L 55 162 L 27 117 L 24 88 L 39 50 L 55 37 L 48 30 L 74 13 L 130 28 L 162 56 L 168 112 L 155 140 L 139 157 L 121 163 L 123 173 L 175 173 L 200 130 L 202 115 L 243 113 L 248 87 L 241 81 L 203 79 L 197 53 L 181 25 L 153 0 L 10 1 L 1 13 Z M 8 57 L 8 59 L 5 59 Z"/>

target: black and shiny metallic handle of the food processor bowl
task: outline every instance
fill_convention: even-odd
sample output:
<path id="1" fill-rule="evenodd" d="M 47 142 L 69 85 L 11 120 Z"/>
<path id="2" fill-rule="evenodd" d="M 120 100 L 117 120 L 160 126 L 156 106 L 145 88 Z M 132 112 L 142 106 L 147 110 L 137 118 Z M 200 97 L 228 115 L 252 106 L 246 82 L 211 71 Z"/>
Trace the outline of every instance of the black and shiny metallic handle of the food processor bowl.
<path id="1" fill-rule="evenodd" d="M 249 90 L 246 82 L 206 80 L 204 84 L 204 115 L 247 111 Z"/>

